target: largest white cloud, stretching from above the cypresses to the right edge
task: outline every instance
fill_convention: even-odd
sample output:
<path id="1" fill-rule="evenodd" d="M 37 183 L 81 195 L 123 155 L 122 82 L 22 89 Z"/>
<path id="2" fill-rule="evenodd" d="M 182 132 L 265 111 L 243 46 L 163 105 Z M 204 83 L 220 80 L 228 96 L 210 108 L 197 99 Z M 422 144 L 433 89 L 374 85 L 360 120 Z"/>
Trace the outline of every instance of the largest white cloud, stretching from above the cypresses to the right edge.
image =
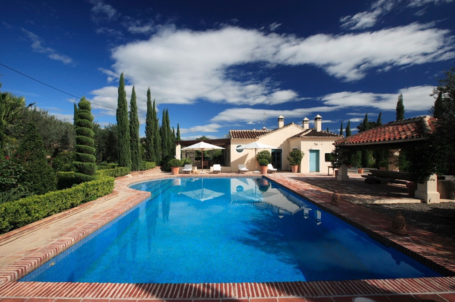
<path id="1" fill-rule="evenodd" d="M 112 50 L 110 78 L 125 71 L 128 82 L 145 96 L 151 87 L 157 103 L 192 104 L 198 99 L 233 105 L 273 105 L 302 98 L 282 90 L 271 79 L 251 76 L 235 80 L 238 66 L 263 63 L 315 65 L 345 81 L 363 78 L 370 70 L 406 67 L 455 57 L 449 30 L 411 24 L 359 34 L 319 34 L 308 38 L 265 34 L 259 30 L 227 26 L 218 30 L 192 31 L 162 28 L 148 40 Z M 259 67 L 261 68 L 261 67 Z M 104 72 L 104 70 L 103 70 Z M 241 77 L 244 78 L 244 77 Z M 112 93 L 107 93 L 107 91 Z M 92 91 L 115 106 L 116 87 Z M 145 108 L 145 107 L 142 107 Z M 251 120 L 248 120 L 251 121 Z"/>

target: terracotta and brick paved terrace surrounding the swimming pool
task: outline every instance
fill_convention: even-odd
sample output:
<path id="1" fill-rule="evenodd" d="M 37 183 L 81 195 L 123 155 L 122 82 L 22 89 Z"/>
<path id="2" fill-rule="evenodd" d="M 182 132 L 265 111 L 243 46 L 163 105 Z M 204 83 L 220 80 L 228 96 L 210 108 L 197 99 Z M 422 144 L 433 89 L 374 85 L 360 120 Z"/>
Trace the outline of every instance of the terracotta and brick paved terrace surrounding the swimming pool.
<path id="1" fill-rule="evenodd" d="M 199 176 L 234 175 L 255 176 Z M 349 176 L 352 180 L 348 182 L 318 174 L 276 173 L 267 177 L 349 221 L 379 241 L 396 247 L 447 276 L 455 276 L 455 242 L 409 225 L 408 236 L 394 235 L 387 231 L 388 217 L 347 202 L 409 201 L 403 187 L 393 187 L 393 191 L 389 192 L 381 185 L 365 187 L 363 179 L 356 174 Z M 0 302 L 348 302 L 355 297 L 368 297 L 377 302 L 455 302 L 455 277 L 200 284 L 15 282 L 150 195 L 129 189 L 127 185 L 159 177 L 174 176 L 155 169 L 119 177 L 115 191 L 109 196 L 0 235 Z M 338 207 L 329 204 L 334 190 L 341 194 L 342 203 Z"/>

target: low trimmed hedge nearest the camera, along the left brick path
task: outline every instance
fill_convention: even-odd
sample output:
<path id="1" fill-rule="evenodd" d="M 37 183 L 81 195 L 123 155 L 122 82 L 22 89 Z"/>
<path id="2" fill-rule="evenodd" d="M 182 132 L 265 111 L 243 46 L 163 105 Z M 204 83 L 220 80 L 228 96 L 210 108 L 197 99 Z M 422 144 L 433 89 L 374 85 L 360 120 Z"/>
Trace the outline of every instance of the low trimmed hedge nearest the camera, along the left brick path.
<path id="1" fill-rule="evenodd" d="M 5 202 L 0 205 L 0 234 L 112 193 L 114 178 L 98 176 L 68 189 Z"/>

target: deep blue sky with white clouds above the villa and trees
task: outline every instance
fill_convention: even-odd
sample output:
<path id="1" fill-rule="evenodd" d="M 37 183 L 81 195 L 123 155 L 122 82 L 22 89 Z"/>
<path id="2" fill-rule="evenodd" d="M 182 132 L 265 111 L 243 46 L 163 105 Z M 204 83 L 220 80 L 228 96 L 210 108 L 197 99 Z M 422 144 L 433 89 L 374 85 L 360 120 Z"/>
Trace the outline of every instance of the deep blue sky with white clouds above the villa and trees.
<path id="1" fill-rule="evenodd" d="M 147 87 L 182 138 L 222 138 L 323 117 L 426 115 L 455 66 L 455 1 L 22 1 L 2 4 L 0 63 L 74 96 L 115 123 L 118 78 Z M 0 65 L 2 90 L 72 121 L 75 98 Z M 144 135 L 141 125 L 141 136 Z"/>

